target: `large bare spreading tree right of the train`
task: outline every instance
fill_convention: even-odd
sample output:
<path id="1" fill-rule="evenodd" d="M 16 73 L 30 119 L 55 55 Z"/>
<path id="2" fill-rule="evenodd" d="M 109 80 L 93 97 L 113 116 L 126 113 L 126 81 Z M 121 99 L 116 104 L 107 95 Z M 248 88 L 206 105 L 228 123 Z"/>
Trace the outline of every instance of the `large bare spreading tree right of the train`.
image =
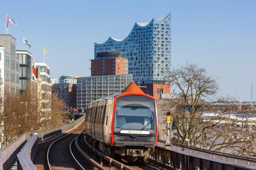
<path id="1" fill-rule="evenodd" d="M 216 78 L 208 75 L 205 68 L 186 62 L 173 68 L 166 79 L 180 92 L 158 105 L 162 114 L 171 113 L 172 129 L 177 133 L 175 142 L 186 144 L 189 139 L 192 146 L 238 154 L 230 148 L 239 147 L 248 135 L 241 133 L 242 137 L 235 137 L 234 130 L 247 120 L 235 115 L 239 114 L 236 101 L 216 97 Z"/>

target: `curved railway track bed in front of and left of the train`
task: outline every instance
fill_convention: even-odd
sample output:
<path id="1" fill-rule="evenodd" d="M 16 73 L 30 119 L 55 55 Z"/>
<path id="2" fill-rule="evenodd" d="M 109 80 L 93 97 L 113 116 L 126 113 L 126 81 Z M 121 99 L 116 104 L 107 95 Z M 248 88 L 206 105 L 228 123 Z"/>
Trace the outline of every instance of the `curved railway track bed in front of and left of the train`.
<path id="1" fill-rule="evenodd" d="M 83 130 L 84 125 L 81 125 L 76 130 L 54 142 L 49 141 L 40 144 L 41 147 L 49 149 L 46 152 L 47 154 L 44 153 L 45 151 L 38 153 L 42 162 L 44 162 L 44 159 L 42 159 L 44 154 L 47 155 L 47 161 L 46 163 L 41 162 L 43 164 L 41 166 L 38 166 L 38 162 L 34 162 L 37 168 L 40 170 L 166 170 L 166 168 L 157 168 L 159 166 L 155 166 L 152 162 L 147 163 L 153 166 L 116 161 L 93 148 L 87 141 L 84 141 Z M 84 152 L 84 142 L 87 142 L 86 145 L 93 154 Z"/>

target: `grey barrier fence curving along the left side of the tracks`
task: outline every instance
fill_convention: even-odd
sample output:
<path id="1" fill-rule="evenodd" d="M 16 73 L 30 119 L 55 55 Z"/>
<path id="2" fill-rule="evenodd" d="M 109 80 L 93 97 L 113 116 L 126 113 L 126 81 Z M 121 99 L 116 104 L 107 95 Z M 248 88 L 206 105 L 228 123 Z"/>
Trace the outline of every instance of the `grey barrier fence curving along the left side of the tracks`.
<path id="1" fill-rule="evenodd" d="M 42 131 L 32 131 L 32 132 L 23 133 L 23 135 L 21 135 L 15 141 L 13 141 L 12 143 L 8 144 L 6 147 L 0 150 L 0 170 L 6 170 L 12 165 L 13 161 L 16 159 L 17 153 L 21 150 L 21 148 L 30 138 L 29 134 L 31 133 L 33 133 L 34 135 L 37 134 L 38 142 L 42 140 L 46 140 L 52 136 L 63 133 L 71 129 L 72 127 L 78 125 L 79 122 L 84 120 L 84 118 L 85 118 L 85 115 L 81 116 L 79 119 L 67 125 L 61 125 L 58 127 L 54 127 L 54 128 L 42 130 Z"/>

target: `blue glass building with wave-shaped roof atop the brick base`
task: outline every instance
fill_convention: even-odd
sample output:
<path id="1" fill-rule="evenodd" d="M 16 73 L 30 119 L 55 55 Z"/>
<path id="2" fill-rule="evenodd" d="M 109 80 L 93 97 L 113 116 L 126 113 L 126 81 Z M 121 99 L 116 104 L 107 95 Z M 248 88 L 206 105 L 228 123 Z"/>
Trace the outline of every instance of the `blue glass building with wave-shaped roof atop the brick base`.
<path id="1" fill-rule="evenodd" d="M 122 51 L 135 83 L 165 84 L 171 68 L 171 14 L 148 23 L 135 23 L 124 40 L 109 37 L 102 44 L 94 43 L 95 59 L 98 52 L 107 51 Z"/>

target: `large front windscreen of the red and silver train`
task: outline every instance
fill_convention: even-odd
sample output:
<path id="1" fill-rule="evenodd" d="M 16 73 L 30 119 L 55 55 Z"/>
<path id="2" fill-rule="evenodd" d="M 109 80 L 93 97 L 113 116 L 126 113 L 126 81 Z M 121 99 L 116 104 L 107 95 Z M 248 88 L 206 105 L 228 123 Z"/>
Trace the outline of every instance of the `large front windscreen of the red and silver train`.
<path id="1" fill-rule="evenodd" d="M 156 131 L 154 100 L 145 96 L 123 96 L 116 99 L 115 132 L 120 130 Z"/>

